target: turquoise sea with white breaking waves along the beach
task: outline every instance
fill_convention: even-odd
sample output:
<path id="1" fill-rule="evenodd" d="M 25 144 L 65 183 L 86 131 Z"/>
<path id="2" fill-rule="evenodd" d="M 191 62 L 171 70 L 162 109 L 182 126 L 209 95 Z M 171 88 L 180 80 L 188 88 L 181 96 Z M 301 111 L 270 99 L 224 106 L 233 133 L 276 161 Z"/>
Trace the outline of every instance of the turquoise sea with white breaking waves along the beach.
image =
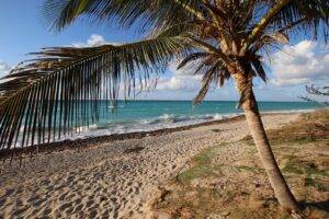
<path id="1" fill-rule="evenodd" d="M 324 107 L 309 102 L 260 102 L 261 112 L 313 111 Z M 131 131 L 185 126 L 239 115 L 236 102 L 209 101 L 193 106 L 191 101 L 128 101 L 118 102 L 113 113 L 105 103 L 101 105 L 100 120 L 75 137 L 91 137 Z"/>

